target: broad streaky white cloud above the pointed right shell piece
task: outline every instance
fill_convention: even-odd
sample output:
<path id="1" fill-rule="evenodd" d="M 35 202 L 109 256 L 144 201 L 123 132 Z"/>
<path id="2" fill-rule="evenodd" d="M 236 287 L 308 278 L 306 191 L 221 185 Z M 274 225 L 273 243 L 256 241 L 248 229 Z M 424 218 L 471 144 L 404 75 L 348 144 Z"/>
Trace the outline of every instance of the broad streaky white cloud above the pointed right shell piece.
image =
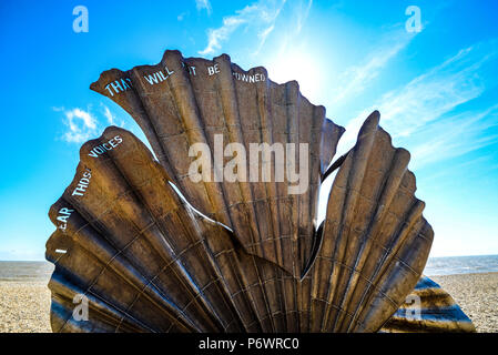
<path id="1" fill-rule="evenodd" d="M 410 145 L 414 169 L 497 143 L 498 136 L 489 132 L 497 125 L 498 104 L 455 113 L 458 106 L 484 93 L 482 68 L 497 54 L 491 43 L 471 45 L 387 92 L 346 125 L 341 152 L 354 144 L 360 124 L 375 109 L 394 140 Z"/>

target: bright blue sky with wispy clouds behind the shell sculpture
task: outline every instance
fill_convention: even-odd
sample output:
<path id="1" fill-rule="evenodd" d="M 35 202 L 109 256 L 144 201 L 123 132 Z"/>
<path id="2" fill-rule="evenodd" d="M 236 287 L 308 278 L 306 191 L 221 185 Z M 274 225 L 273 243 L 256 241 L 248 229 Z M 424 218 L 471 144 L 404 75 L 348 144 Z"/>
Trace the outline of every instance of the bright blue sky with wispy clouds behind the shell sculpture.
<path id="1" fill-rule="evenodd" d="M 73 31 L 75 6 L 89 32 Z M 421 31 L 407 32 L 408 6 Z M 228 53 L 297 80 L 347 129 L 349 149 L 378 109 L 411 152 L 417 196 L 435 230 L 433 256 L 498 254 L 497 1 L 0 2 L 2 154 L 0 260 L 42 260 L 47 213 L 71 182 L 79 148 L 134 121 L 90 91 L 110 68 Z"/>

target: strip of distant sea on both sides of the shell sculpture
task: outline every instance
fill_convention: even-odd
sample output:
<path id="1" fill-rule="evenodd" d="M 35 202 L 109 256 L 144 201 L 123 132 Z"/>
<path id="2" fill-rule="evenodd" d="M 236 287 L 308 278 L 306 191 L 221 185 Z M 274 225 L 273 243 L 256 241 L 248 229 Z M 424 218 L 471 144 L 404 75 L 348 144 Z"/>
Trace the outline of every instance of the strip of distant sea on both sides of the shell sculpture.
<path id="1" fill-rule="evenodd" d="M 53 265 L 48 262 L 0 261 L 0 281 L 49 281 Z M 498 255 L 429 257 L 427 276 L 498 272 Z"/>

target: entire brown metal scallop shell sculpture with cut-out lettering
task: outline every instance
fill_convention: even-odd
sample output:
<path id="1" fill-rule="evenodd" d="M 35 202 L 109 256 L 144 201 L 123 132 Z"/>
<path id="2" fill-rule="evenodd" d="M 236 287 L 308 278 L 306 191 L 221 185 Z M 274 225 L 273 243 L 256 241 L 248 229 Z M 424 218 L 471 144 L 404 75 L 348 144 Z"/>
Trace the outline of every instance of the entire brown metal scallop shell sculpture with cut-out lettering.
<path id="1" fill-rule="evenodd" d="M 54 332 L 474 331 L 449 295 L 440 291 L 436 307 L 420 291 L 434 233 L 409 153 L 393 148 L 378 112 L 327 171 L 344 129 L 296 82 L 276 84 L 226 54 L 166 51 L 157 65 L 103 72 L 91 89 L 133 116 L 159 161 L 115 126 L 81 148 L 49 213 Z M 197 143 L 209 164 L 192 170 Z M 291 169 L 273 151 L 266 179 L 263 169 L 260 179 L 223 179 L 234 155 L 216 153 L 231 143 L 278 143 L 298 158 Z M 336 169 L 317 225 L 321 182 Z M 289 170 L 304 172 L 304 191 L 278 179 Z M 411 292 L 423 300 L 418 321 L 404 305 Z M 87 321 L 73 315 L 83 297 Z"/>

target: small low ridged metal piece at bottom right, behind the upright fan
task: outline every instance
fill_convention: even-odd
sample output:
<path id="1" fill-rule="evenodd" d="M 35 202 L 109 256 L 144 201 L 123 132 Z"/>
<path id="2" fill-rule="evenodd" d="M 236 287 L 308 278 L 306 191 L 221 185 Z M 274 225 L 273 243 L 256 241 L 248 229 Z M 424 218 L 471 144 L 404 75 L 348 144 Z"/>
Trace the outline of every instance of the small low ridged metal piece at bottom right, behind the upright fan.
<path id="1" fill-rule="evenodd" d="M 423 276 L 407 296 L 407 302 L 383 326 L 382 332 L 474 333 L 476 327 L 445 290 Z"/>

